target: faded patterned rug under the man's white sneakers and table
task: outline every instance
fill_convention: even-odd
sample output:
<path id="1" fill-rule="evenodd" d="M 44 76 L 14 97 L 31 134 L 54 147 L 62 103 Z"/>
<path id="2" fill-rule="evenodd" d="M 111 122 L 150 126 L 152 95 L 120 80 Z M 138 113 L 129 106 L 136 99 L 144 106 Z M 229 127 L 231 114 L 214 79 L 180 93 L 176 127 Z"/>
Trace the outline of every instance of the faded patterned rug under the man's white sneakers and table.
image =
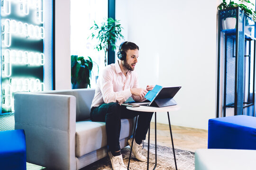
<path id="1" fill-rule="evenodd" d="M 155 144 L 150 144 L 149 149 L 149 169 L 155 166 Z M 125 165 L 128 165 L 130 147 L 121 150 Z M 144 154 L 147 157 L 147 143 L 144 144 Z M 178 170 L 194 170 L 194 153 L 175 149 L 175 156 Z M 146 170 L 147 162 L 137 161 L 132 153 L 129 170 Z M 33 164 L 27 164 L 27 170 L 47 170 Z M 110 158 L 107 156 L 96 161 L 81 170 L 112 170 Z M 157 166 L 155 170 L 175 170 L 173 149 L 157 145 Z"/>

